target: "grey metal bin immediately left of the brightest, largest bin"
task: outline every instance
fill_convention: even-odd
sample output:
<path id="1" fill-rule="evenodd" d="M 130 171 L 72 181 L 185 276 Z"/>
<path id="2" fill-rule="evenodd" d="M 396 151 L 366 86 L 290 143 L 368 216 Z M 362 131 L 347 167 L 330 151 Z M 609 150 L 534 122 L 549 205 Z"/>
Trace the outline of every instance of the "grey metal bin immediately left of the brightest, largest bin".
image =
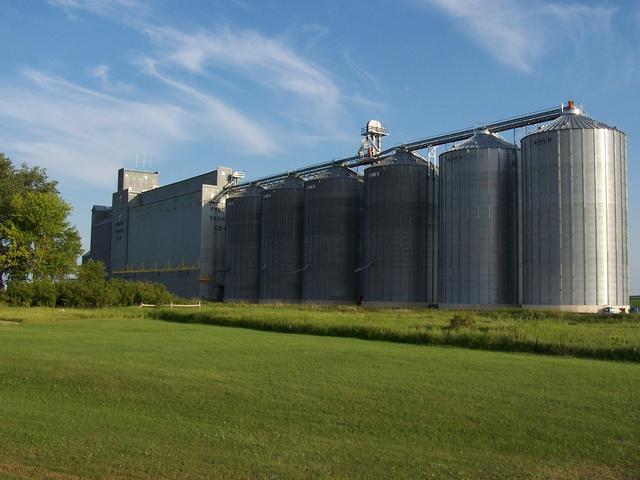
<path id="1" fill-rule="evenodd" d="M 439 303 L 518 304 L 517 163 L 486 130 L 440 155 Z"/>

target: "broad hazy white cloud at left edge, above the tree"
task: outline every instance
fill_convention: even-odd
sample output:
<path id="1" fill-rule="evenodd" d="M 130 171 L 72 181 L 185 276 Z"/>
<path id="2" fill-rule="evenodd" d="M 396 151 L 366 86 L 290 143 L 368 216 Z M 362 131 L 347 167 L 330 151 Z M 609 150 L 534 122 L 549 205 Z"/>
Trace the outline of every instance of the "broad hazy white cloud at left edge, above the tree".
<path id="1" fill-rule="evenodd" d="M 227 126 L 213 124 L 208 108 L 127 100 L 29 70 L 20 85 L 0 84 L 0 119 L 7 126 L 0 143 L 16 160 L 46 167 L 55 178 L 101 186 L 142 152 L 159 158 L 203 138 L 240 153 L 269 147 L 238 143 L 240 129 L 256 127 L 238 124 L 232 110 L 223 113 L 230 118 Z"/>

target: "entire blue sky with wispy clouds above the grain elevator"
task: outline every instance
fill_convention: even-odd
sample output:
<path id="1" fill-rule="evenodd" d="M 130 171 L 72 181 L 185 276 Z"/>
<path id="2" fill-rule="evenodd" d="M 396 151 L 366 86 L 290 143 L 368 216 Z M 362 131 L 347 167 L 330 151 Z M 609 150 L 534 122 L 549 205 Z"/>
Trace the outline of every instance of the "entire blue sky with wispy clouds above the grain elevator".
<path id="1" fill-rule="evenodd" d="M 629 137 L 640 293 L 640 2 L 0 0 L 0 19 L 0 151 L 59 180 L 86 248 L 143 155 L 162 184 L 255 178 L 354 154 L 370 118 L 391 145 L 572 98 Z"/>

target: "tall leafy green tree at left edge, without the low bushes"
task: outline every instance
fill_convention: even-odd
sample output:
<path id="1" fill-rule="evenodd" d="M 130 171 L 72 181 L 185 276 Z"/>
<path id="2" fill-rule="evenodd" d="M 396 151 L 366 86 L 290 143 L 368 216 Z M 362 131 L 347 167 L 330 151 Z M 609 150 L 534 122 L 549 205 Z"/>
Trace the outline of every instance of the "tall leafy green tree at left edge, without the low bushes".
<path id="1" fill-rule="evenodd" d="M 70 212 L 44 169 L 16 169 L 0 154 L 0 288 L 9 279 L 55 280 L 75 272 L 82 246 Z"/>

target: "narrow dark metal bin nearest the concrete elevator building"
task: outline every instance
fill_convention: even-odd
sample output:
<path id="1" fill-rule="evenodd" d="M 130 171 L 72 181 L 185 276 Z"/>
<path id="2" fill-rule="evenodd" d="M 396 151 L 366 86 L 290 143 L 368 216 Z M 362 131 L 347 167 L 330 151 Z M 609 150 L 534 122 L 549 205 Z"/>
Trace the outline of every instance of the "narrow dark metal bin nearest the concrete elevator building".
<path id="1" fill-rule="evenodd" d="M 257 302 L 262 268 L 262 194 L 249 186 L 227 199 L 225 301 Z"/>

